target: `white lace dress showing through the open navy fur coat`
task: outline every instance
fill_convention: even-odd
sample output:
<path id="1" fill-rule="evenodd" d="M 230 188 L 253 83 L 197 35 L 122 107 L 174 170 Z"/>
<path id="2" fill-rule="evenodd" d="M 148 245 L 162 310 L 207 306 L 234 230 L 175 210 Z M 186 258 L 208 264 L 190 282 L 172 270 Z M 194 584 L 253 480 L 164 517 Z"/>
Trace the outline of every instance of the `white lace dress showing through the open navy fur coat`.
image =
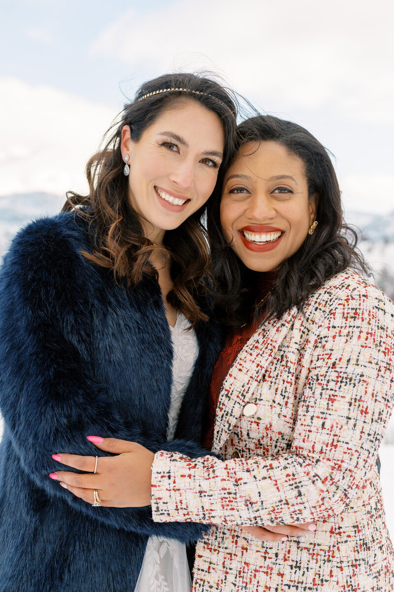
<path id="1" fill-rule="evenodd" d="M 171 329 L 172 388 L 168 412 L 167 439 L 172 440 L 178 423 L 183 395 L 198 356 L 198 343 L 188 319 L 178 313 Z M 149 536 L 144 561 L 134 592 L 190 592 L 191 578 L 187 564 L 186 546 L 175 539 Z"/>

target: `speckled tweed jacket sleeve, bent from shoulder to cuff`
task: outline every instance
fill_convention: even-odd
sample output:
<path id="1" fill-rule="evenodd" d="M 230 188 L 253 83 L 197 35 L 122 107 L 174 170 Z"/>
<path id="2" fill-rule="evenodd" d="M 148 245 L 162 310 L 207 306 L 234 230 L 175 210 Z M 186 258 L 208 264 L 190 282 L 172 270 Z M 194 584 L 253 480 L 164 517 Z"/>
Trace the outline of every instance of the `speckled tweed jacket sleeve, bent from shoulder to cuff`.
<path id="1" fill-rule="evenodd" d="M 154 520 L 288 524 L 346 509 L 376 462 L 393 406 L 393 318 L 393 303 L 362 282 L 315 295 L 306 317 L 293 314 L 266 368 L 282 385 L 282 409 L 298 407 L 288 448 L 271 458 L 226 461 L 158 452 Z M 258 340 L 252 348 L 258 351 Z M 269 400 L 274 387 L 263 375 L 253 403 L 264 394 Z M 218 407 L 218 414 L 220 429 L 229 411 Z"/>

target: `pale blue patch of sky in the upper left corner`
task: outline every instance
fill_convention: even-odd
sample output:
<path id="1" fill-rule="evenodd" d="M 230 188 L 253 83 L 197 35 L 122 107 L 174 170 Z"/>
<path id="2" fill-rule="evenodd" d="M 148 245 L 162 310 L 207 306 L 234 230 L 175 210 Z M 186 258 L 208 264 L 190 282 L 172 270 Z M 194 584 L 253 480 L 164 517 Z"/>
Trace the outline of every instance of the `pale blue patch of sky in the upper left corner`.
<path id="1" fill-rule="evenodd" d="M 154 10 L 159 2 L 142 3 Z M 118 84 L 129 78 L 119 60 L 91 56 L 89 46 L 130 2 L 117 0 L 2 0 L 1 76 L 44 83 L 92 101 L 119 101 Z M 142 9 L 141 9 L 142 11 Z"/>

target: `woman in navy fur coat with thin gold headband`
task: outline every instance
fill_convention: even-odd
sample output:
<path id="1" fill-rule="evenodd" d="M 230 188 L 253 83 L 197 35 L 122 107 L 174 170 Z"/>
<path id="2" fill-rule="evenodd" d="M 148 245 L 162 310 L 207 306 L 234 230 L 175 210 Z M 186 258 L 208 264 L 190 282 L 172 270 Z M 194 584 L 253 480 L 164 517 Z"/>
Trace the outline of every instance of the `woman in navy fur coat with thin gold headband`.
<path id="1" fill-rule="evenodd" d="M 207 316 L 200 218 L 231 157 L 235 118 L 209 79 L 145 83 L 88 163 L 89 196 L 71 193 L 4 258 L 1 592 L 132 592 L 149 536 L 189 543 L 208 529 L 155 524 L 149 506 L 92 507 L 48 473 L 62 450 L 98 454 L 99 468 L 108 455 L 87 440 L 96 433 L 204 454 L 203 395 L 221 344 Z M 180 316 L 198 352 L 168 437 Z"/>

